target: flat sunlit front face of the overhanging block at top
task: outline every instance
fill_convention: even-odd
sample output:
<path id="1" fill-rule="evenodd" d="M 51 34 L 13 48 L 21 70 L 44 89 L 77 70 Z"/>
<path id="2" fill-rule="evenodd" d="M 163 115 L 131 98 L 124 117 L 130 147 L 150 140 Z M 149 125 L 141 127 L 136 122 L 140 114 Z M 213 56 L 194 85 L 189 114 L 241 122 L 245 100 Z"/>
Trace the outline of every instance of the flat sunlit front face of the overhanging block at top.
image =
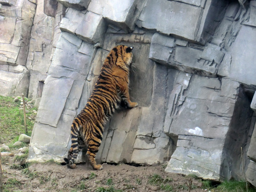
<path id="1" fill-rule="evenodd" d="M 162 10 L 159 12 L 158 10 Z M 164 34 L 175 34 L 194 40 L 201 7 L 175 1 L 149 0 L 144 6 L 137 25 L 141 28 L 156 29 Z M 154 15 L 154 17 L 152 17 Z M 165 18 L 164 21 L 158 22 Z"/>

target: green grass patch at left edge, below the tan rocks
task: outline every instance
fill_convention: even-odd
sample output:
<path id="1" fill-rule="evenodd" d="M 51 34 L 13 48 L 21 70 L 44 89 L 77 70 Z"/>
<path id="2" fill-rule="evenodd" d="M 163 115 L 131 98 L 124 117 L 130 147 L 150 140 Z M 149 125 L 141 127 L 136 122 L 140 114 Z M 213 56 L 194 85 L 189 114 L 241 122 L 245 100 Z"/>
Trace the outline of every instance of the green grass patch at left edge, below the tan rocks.
<path id="1" fill-rule="evenodd" d="M 14 143 L 13 140 L 17 140 L 21 133 L 25 133 L 23 111 L 20 111 L 19 108 L 20 102 L 15 103 L 12 97 L 0 95 L 0 140 L 7 145 Z M 36 116 L 33 113 L 34 109 L 27 110 L 29 113 L 26 114 L 26 117 L 34 118 Z M 26 123 L 28 135 L 31 136 L 34 121 L 26 118 Z"/>

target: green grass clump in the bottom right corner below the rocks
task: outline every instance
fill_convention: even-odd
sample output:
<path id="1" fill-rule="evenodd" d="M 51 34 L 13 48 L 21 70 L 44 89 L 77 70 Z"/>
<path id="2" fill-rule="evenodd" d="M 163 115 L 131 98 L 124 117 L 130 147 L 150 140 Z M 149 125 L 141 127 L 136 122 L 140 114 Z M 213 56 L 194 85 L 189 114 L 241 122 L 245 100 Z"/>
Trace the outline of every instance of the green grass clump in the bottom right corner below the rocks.
<path id="1" fill-rule="evenodd" d="M 216 188 L 218 192 L 246 192 L 246 183 L 245 181 L 224 181 Z M 249 188 L 249 192 L 255 192 L 254 188 Z"/>

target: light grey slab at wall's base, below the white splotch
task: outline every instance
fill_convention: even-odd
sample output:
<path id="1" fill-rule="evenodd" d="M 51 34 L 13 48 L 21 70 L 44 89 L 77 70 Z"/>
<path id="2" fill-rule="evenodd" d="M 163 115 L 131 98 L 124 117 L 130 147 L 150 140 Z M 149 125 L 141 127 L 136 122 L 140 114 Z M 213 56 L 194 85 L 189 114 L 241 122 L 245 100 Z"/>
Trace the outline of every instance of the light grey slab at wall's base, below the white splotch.
<path id="1" fill-rule="evenodd" d="M 165 171 L 219 180 L 223 146 L 224 140 L 179 135 L 177 148 Z"/>

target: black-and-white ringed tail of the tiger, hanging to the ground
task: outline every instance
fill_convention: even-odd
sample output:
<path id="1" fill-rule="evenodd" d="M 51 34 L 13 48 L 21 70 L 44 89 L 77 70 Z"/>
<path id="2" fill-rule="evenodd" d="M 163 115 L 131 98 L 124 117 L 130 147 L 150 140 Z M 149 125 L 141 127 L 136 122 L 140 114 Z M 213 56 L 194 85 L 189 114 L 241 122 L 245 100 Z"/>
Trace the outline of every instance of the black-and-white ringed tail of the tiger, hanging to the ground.
<path id="1" fill-rule="evenodd" d="M 71 125 L 71 148 L 68 151 L 68 158 L 64 158 L 65 163 L 68 165 L 68 168 L 74 169 L 74 162 L 78 156 L 78 132 L 79 132 L 79 123 L 76 122 L 76 119 Z M 73 156 L 72 156 L 73 154 Z"/>

